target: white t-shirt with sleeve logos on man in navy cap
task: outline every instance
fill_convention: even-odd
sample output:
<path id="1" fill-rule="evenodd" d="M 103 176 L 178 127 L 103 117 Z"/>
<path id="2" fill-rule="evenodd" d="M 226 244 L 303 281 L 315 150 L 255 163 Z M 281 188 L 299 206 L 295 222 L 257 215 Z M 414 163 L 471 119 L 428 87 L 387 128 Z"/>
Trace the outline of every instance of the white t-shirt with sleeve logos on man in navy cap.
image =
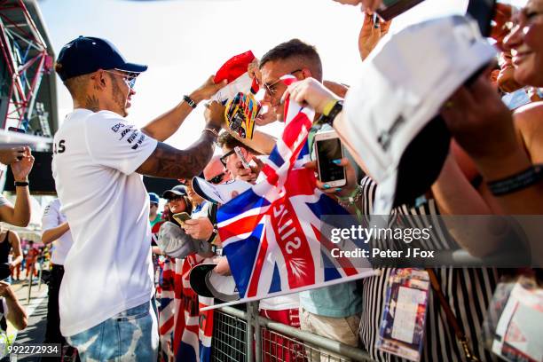
<path id="1" fill-rule="evenodd" d="M 59 292 L 65 336 L 151 299 L 149 196 L 134 171 L 156 145 L 109 111 L 76 109 L 55 134 L 52 174 L 74 239 Z"/>

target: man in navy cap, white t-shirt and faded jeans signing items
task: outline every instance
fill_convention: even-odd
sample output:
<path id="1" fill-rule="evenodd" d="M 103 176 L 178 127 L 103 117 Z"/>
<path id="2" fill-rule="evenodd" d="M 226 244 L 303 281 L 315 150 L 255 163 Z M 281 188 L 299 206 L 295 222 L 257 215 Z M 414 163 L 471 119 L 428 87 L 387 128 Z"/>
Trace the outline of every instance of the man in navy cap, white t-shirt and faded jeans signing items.
<path id="1" fill-rule="evenodd" d="M 211 104 L 190 148 L 162 143 L 224 85 L 209 78 L 138 130 L 124 117 L 146 68 L 127 63 L 106 40 L 83 36 L 62 48 L 55 65 L 74 100 L 53 143 L 53 177 L 74 238 L 60 286 L 60 331 L 82 360 L 156 359 L 149 198 L 141 175 L 198 175 L 224 118 Z"/>

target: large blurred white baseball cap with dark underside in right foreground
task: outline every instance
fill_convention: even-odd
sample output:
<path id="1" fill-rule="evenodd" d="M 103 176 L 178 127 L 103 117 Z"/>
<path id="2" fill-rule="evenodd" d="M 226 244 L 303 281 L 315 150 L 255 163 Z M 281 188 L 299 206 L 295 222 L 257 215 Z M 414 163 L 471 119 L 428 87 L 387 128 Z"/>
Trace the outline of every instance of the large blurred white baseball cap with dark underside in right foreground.
<path id="1" fill-rule="evenodd" d="M 363 62 L 345 98 L 342 136 L 378 184 L 374 214 L 429 190 L 451 137 L 439 110 L 495 55 L 476 21 L 453 15 L 387 35 Z"/>

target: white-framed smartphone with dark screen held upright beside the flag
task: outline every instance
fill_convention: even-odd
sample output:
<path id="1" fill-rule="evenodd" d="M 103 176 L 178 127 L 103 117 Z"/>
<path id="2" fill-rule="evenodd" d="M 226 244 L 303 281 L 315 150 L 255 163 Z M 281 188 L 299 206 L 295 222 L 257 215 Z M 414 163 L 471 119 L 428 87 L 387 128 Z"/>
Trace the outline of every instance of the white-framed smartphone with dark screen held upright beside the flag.
<path id="1" fill-rule="evenodd" d="M 342 141 L 335 130 L 315 134 L 315 153 L 319 180 L 331 187 L 346 185 L 345 168 L 333 162 L 343 158 Z"/>

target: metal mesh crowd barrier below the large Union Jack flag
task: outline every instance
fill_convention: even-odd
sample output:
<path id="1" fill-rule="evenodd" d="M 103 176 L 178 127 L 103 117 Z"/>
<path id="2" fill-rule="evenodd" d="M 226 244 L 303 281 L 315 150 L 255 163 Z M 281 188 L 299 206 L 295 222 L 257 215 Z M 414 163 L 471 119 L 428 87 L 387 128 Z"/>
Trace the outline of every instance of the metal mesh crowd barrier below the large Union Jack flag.
<path id="1" fill-rule="evenodd" d="M 365 350 L 265 319 L 257 303 L 247 306 L 215 311 L 211 361 L 253 362 L 253 355 L 255 362 L 373 361 Z"/>

